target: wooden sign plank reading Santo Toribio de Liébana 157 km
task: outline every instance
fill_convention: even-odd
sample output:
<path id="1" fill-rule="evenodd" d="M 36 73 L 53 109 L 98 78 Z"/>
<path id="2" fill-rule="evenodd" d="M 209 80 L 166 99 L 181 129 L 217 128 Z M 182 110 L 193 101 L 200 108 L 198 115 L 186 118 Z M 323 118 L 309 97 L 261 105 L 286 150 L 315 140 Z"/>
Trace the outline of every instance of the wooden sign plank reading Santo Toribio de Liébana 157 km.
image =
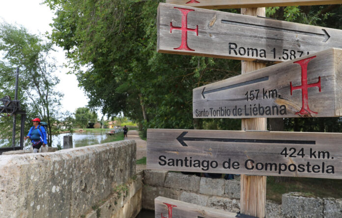
<path id="1" fill-rule="evenodd" d="M 341 60 L 341 49 L 329 49 L 195 88 L 193 116 L 341 116 Z"/>

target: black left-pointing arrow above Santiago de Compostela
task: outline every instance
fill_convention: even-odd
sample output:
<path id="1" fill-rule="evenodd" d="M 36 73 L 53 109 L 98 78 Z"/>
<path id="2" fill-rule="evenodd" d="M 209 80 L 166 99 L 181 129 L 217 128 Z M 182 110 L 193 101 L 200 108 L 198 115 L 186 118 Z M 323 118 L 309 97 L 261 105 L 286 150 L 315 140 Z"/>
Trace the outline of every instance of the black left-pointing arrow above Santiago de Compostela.
<path id="1" fill-rule="evenodd" d="M 188 132 L 183 132 L 177 137 L 177 141 L 183 146 L 188 145 L 184 141 L 218 141 L 218 142 L 237 142 L 237 143 L 272 143 L 272 144 L 316 144 L 316 141 L 307 140 L 275 140 L 275 139 L 247 139 L 247 138 L 196 138 L 184 137 Z"/>

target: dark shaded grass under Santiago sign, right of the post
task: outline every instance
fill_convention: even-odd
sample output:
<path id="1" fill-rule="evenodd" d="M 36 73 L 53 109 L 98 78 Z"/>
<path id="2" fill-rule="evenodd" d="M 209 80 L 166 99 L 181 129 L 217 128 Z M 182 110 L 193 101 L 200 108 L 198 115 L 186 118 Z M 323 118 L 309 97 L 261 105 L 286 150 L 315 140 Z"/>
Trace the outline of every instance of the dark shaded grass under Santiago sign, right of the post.
<path id="1" fill-rule="evenodd" d="M 276 183 L 274 177 L 267 177 L 266 199 L 277 203 L 282 202 L 282 194 L 288 192 L 302 192 L 306 197 L 334 197 L 341 198 L 342 180 L 295 178 L 288 182 Z"/>

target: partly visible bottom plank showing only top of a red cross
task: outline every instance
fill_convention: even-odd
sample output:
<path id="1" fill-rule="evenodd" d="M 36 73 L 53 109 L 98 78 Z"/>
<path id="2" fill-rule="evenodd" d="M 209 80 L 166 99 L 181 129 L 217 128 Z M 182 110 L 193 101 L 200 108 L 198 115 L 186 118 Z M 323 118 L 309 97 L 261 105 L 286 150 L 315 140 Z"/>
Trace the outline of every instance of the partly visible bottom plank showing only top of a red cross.
<path id="1" fill-rule="evenodd" d="M 230 213 L 166 197 L 154 199 L 156 218 L 238 218 L 236 213 Z"/>

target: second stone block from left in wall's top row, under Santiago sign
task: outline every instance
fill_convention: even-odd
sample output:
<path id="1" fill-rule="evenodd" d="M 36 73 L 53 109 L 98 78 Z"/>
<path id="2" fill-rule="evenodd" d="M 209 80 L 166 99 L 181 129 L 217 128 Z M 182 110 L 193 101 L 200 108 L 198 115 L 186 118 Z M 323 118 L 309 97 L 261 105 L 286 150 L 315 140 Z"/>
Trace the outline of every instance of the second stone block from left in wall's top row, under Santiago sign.
<path id="1" fill-rule="evenodd" d="M 166 176 L 164 186 L 172 189 L 181 189 L 198 192 L 199 181 L 199 176 L 169 172 Z"/>

